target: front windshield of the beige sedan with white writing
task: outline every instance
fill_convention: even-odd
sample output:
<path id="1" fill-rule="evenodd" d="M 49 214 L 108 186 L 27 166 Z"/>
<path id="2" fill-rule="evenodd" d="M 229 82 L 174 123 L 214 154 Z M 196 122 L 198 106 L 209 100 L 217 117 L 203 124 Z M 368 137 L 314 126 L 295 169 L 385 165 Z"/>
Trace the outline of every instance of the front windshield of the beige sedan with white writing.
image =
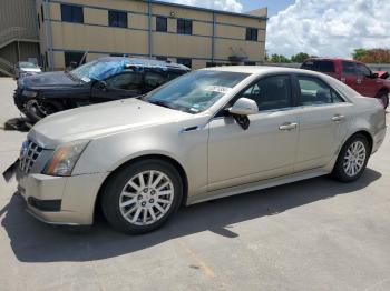
<path id="1" fill-rule="evenodd" d="M 152 91 L 143 100 L 195 114 L 208 109 L 248 76 L 238 72 L 195 71 Z"/>

